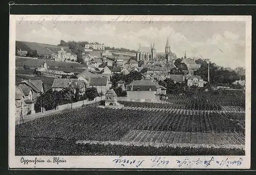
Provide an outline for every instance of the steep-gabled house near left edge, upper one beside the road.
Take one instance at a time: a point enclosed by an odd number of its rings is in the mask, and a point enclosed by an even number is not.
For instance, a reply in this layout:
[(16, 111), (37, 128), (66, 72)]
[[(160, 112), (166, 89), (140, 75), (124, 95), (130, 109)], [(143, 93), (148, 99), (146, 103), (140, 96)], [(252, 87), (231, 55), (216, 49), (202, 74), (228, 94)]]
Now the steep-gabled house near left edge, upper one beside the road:
[(41, 80), (24, 80), (20, 82), (18, 85), (21, 89), (24, 91), (28, 91), (28, 89), (31, 89), (32, 93), (32, 101), (36, 101), (36, 98), (40, 96), (42, 93), (44, 93), (44, 86)]

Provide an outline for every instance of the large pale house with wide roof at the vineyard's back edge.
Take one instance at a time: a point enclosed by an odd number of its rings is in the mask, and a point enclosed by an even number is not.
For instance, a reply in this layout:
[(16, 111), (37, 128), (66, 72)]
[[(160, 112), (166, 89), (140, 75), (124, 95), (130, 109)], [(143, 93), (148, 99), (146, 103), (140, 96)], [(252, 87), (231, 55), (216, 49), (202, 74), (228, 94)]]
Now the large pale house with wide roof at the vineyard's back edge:
[(136, 80), (127, 85), (127, 101), (153, 102), (159, 100), (161, 93), (166, 93), (166, 88), (158, 85), (151, 79)]

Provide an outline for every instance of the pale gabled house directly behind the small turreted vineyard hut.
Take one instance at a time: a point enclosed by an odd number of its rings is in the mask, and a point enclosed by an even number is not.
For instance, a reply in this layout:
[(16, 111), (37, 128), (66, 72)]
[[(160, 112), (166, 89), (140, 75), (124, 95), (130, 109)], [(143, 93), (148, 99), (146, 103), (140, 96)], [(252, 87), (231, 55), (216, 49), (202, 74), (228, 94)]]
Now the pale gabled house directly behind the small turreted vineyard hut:
[(109, 88), (109, 80), (106, 77), (92, 77), (90, 80), (90, 88), (95, 87), (98, 93), (105, 94)]

